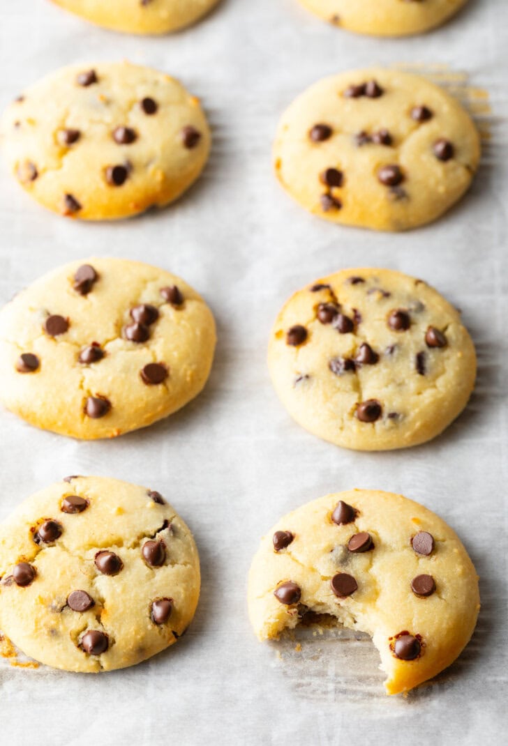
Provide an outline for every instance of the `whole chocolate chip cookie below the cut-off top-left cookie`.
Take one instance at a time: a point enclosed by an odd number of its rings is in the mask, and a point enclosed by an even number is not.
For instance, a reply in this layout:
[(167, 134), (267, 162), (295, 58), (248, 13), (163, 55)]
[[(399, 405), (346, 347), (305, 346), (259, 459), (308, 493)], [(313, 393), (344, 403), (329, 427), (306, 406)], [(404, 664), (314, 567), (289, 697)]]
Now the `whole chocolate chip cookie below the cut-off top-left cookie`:
[(175, 200), (201, 173), (211, 140), (197, 98), (128, 62), (53, 72), (7, 107), (1, 134), (19, 184), (49, 210), (84, 220)]

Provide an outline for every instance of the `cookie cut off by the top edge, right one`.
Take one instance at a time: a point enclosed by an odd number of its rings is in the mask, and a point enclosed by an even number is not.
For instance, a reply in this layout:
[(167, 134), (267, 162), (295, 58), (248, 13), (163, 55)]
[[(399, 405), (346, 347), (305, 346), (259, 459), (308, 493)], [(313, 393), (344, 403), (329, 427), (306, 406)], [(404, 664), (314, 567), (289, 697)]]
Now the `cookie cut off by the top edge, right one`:
[(444, 23), (467, 0), (300, 0), (335, 25), (377, 37), (421, 34)]

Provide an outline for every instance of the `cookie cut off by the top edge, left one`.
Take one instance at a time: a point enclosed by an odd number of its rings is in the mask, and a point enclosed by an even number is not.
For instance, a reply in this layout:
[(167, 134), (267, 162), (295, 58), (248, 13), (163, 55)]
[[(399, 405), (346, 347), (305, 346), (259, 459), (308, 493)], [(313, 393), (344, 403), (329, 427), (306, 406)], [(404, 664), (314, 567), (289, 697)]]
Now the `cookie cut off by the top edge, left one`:
[(196, 22), (219, 0), (53, 0), (87, 21), (128, 34), (167, 34)]

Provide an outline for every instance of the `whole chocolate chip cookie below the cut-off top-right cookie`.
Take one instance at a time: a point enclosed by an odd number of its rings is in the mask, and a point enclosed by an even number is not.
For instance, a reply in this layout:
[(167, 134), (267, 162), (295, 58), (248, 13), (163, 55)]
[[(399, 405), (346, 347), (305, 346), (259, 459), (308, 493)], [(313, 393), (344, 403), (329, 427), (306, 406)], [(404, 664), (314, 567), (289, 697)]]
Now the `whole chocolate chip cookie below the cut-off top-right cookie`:
[(276, 175), (329, 221), (403, 231), (445, 213), (471, 184), (471, 117), (417, 75), (372, 68), (324, 78), (282, 115)]

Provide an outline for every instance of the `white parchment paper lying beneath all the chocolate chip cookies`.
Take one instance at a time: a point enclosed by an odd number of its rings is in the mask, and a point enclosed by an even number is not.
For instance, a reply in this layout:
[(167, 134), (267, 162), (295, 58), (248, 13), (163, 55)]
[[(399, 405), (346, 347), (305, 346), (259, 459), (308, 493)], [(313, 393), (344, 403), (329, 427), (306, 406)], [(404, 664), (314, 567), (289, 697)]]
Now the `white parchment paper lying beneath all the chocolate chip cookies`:
[[(0, 518), (65, 474), (111, 475), (162, 492), (193, 529), (202, 560), (195, 621), (155, 659), (100, 676), (1, 661), (1, 742), (505, 742), (507, 46), (505, 0), (470, 0), (445, 28), (406, 40), (347, 34), (296, 0), (223, 0), (201, 24), (161, 39), (95, 28), (47, 0), (2, 3), (1, 107), (59, 66), (128, 57), (170, 72), (202, 98), (214, 150), (203, 178), (173, 207), (110, 225), (53, 216), (2, 166), (0, 301), (67, 260), (141, 259), (205, 295), (219, 343), (196, 401), (114, 442), (75, 442), (0, 412)], [(307, 215), (271, 173), (282, 109), (323, 75), (400, 62), (447, 63), (489, 90), (492, 141), (473, 188), (445, 219), (399, 235)], [(463, 416), (434, 442), (385, 454), (341, 450), (297, 427), (276, 401), (265, 364), (270, 325), (291, 292), (343, 266), (371, 265), (435, 285), (462, 308), (479, 354)], [(366, 639), (307, 632), (303, 652), (294, 653), (294, 642), (258, 643), (247, 619), (247, 571), (262, 533), (288, 510), (355, 486), (403, 492), (435, 510), (481, 576), (471, 644), (407, 698), (385, 696)]]

